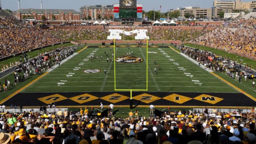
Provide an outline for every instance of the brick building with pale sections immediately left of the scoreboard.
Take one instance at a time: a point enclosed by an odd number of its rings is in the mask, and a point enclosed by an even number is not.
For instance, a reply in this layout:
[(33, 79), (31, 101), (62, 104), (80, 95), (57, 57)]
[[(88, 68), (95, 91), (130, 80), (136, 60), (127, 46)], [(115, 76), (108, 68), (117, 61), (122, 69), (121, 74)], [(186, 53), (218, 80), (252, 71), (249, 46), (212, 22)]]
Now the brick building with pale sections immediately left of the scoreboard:
[(114, 17), (114, 8), (113, 5), (82, 6), (80, 7), (80, 16), (81, 20), (90, 18), (91, 20), (112, 19)]

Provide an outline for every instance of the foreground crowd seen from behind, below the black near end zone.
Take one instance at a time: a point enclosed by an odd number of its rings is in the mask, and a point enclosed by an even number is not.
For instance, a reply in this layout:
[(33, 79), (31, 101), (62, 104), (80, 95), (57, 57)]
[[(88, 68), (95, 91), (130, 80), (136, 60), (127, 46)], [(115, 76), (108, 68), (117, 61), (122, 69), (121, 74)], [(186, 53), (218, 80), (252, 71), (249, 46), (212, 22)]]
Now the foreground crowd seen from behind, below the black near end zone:
[[(255, 108), (251, 112), (169, 111), (158, 117), (88, 117), (56, 112), (2, 113), (0, 135), (22, 144), (254, 144)], [(1, 140), (1, 137), (0, 137)], [(8, 143), (7, 142), (7, 143)]]

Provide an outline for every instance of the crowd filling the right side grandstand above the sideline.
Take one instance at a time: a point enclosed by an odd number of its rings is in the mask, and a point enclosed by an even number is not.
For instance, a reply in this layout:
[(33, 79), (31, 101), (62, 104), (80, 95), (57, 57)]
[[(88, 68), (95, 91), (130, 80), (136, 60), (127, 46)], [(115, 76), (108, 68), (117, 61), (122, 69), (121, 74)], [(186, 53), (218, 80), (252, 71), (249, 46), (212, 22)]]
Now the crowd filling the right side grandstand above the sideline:
[(256, 57), (255, 30), (256, 19), (240, 19), (219, 27), (212, 32), (199, 37), (197, 43), (221, 48), (226, 52), (235, 52), (244, 56)]

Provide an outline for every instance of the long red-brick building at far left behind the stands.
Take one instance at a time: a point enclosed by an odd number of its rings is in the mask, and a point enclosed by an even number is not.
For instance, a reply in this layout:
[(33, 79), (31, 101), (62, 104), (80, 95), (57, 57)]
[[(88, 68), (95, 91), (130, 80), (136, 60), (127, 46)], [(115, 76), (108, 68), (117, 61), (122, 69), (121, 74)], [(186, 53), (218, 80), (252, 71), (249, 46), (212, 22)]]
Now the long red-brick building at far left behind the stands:
[(45, 16), (47, 20), (80, 20), (80, 12), (71, 9), (20, 9), (14, 12), (18, 19), (23, 19), (25, 16), (42, 20)]

